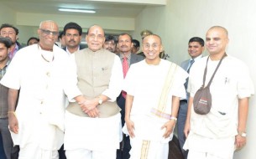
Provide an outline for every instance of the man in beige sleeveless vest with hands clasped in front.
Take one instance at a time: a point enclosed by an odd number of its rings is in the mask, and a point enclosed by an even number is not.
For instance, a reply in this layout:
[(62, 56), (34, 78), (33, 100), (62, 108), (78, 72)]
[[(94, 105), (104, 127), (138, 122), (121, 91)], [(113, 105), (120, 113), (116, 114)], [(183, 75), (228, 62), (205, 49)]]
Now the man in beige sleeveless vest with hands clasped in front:
[(115, 100), (122, 90), (123, 70), (119, 57), (102, 49), (104, 41), (102, 27), (91, 26), (86, 34), (88, 48), (77, 51), (72, 61), (77, 86), (86, 100), (67, 107), (64, 145), (68, 159), (116, 158), (122, 132)]

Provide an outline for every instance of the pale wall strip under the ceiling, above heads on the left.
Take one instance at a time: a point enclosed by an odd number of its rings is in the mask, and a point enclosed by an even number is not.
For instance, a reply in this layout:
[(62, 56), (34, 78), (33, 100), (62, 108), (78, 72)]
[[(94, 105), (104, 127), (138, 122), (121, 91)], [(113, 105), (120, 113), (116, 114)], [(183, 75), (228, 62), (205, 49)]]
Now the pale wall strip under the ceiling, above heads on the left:
[[(86, 17), (74, 15), (54, 15), (43, 13), (16, 13), (16, 24), (21, 30), (20, 41), (26, 43), (27, 39), (34, 36), (34, 30), (39, 28), (39, 23), (44, 20), (54, 20), (62, 30), (66, 23), (76, 22), (86, 32), (93, 24), (99, 24), (106, 33), (123, 33), (134, 30), (134, 18), (109, 18), (109, 17)], [(31, 28), (31, 29), (28, 29)]]

